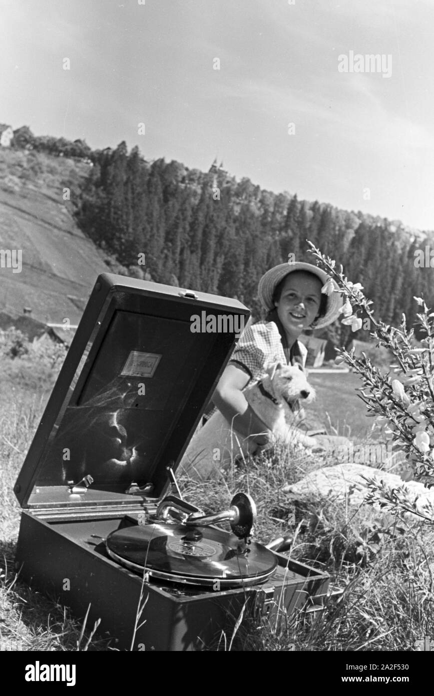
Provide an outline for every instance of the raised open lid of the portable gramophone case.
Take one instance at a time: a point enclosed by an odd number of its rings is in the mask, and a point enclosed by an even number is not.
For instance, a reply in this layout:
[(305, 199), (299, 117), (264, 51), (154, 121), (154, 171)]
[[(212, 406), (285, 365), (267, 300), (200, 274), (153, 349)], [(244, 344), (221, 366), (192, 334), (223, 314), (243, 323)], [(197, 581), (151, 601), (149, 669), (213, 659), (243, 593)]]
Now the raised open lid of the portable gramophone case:
[(98, 276), (15, 484), (22, 507), (129, 504), (133, 483), (159, 498), (249, 317), (236, 300)]

